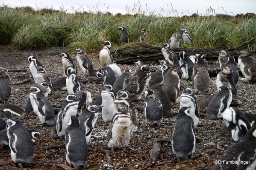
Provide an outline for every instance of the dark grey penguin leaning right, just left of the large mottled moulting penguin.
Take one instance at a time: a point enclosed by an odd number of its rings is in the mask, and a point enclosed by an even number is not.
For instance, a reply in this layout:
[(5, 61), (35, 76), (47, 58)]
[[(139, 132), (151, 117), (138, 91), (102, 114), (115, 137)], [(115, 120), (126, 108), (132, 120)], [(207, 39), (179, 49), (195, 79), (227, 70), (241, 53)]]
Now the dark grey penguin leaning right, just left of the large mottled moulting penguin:
[(119, 90), (123, 89), (125, 90), (127, 87), (127, 83), (129, 79), (132, 78), (132, 70), (126, 69), (124, 72), (115, 80), (113, 84), (113, 92), (116, 97), (116, 94)]

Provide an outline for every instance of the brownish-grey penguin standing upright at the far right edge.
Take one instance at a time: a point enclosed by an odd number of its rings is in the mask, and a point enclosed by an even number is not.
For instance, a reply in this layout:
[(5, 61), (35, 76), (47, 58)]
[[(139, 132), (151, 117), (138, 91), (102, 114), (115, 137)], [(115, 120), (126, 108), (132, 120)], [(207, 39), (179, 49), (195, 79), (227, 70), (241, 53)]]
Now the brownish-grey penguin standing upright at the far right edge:
[(245, 77), (245, 81), (256, 82), (256, 61), (249, 56), (247, 50), (243, 49), (239, 53), (238, 68)]

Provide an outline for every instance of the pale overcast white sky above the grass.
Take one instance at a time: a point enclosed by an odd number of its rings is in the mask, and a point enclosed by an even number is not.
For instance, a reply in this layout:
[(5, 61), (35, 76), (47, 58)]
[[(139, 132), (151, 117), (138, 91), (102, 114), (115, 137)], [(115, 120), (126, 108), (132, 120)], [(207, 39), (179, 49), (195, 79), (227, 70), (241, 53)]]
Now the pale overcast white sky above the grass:
[[(150, 1), (150, 2), (149, 2)], [(140, 4), (140, 5), (139, 5)], [(197, 13), (205, 14), (256, 14), (256, 0), (0, 0), (0, 6), (22, 7), (33, 9), (111, 12), (112, 14), (136, 14), (141, 11), (154, 12), (164, 16), (182, 16)], [(209, 9), (214, 9), (212, 12)]]

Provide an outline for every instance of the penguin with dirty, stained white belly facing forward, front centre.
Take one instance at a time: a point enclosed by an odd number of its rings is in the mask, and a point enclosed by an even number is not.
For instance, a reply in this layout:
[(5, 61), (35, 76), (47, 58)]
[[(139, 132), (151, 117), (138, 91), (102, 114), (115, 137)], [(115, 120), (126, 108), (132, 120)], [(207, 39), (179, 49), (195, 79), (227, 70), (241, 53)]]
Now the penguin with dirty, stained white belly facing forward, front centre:
[(128, 146), (131, 134), (131, 117), (127, 114), (127, 107), (121, 105), (113, 116), (107, 132), (108, 146), (114, 151)]

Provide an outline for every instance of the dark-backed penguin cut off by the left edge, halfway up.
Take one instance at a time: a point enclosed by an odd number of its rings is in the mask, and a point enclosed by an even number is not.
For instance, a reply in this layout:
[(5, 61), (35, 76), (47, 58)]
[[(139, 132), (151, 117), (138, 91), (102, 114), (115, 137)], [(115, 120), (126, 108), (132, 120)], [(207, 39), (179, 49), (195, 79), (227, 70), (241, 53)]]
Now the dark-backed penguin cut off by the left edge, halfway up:
[(8, 72), (0, 68), (0, 103), (9, 103), (11, 94), (12, 86)]

